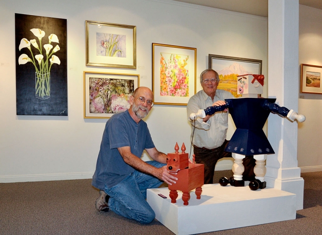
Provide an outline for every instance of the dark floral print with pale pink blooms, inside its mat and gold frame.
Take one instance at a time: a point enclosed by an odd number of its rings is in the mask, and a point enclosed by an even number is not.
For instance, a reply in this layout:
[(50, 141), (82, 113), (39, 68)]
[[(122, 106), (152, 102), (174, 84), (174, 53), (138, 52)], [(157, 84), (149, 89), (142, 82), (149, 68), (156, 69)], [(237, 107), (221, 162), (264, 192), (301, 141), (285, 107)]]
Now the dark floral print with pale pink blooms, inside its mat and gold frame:
[(134, 80), (89, 78), (90, 113), (118, 113), (130, 108)]

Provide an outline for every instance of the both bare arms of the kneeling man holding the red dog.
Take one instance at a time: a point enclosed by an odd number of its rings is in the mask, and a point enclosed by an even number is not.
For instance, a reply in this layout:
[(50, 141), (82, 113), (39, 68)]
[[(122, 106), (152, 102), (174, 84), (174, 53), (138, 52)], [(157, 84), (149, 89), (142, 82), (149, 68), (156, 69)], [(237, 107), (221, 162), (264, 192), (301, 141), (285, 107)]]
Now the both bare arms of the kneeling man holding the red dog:
[[(167, 166), (156, 168), (154, 166), (147, 164), (146, 162), (142, 161), (140, 158), (132, 154), (131, 148), (129, 146), (124, 146), (117, 149), (120, 152), (124, 162), (130, 165), (131, 167), (133, 167), (134, 169), (144, 172), (146, 174), (153, 175), (158, 179), (165, 181), (169, 185), (176, 183), (176, 180), (178, 180), (177, 177), (169, 173), (169, 171), (167, 170)], [(167, 163), (167, 155), (158, 152), (156, 149), (155, 150), (153, 149), (146, 150), (147, 153), (150, 155), (150, 157), (156, 161), (160, 160), (159, 162), (161, 163)]]

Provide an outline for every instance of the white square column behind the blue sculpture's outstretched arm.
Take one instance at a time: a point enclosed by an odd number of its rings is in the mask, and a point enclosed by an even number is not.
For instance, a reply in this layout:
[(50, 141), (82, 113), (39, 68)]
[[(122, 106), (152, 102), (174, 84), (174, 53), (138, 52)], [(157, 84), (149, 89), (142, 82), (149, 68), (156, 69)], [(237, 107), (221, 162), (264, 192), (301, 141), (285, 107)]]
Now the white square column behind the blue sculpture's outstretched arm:
[[(268, 96), (295, 111), (299, 91), (298, 21), (298, 1), (268, 1)], [(297, 122), (271, 113), (268, 139), (275, 154), (267, 157), (267, 186), (295, 193), (296, 209), (302, 209), (304, 180), (297, 166)]]

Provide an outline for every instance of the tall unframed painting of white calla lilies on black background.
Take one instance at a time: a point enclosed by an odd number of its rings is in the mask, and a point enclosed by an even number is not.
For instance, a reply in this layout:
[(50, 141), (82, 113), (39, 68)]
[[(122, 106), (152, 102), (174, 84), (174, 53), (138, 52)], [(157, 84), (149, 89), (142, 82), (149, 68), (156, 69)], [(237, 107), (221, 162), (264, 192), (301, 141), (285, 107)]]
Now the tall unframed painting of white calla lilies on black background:
[(16, 14), (18, 115), (67, 115), (64, 19)]

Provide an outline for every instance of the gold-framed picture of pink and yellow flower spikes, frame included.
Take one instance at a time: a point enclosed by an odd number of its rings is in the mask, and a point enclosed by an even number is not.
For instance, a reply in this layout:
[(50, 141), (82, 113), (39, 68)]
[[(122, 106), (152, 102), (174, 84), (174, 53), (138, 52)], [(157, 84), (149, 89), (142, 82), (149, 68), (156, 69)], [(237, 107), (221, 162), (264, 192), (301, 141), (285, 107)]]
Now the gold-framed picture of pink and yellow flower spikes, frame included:
[(196, 93), (197, 49), (152, 43), (154, 104), (187, 105)]

